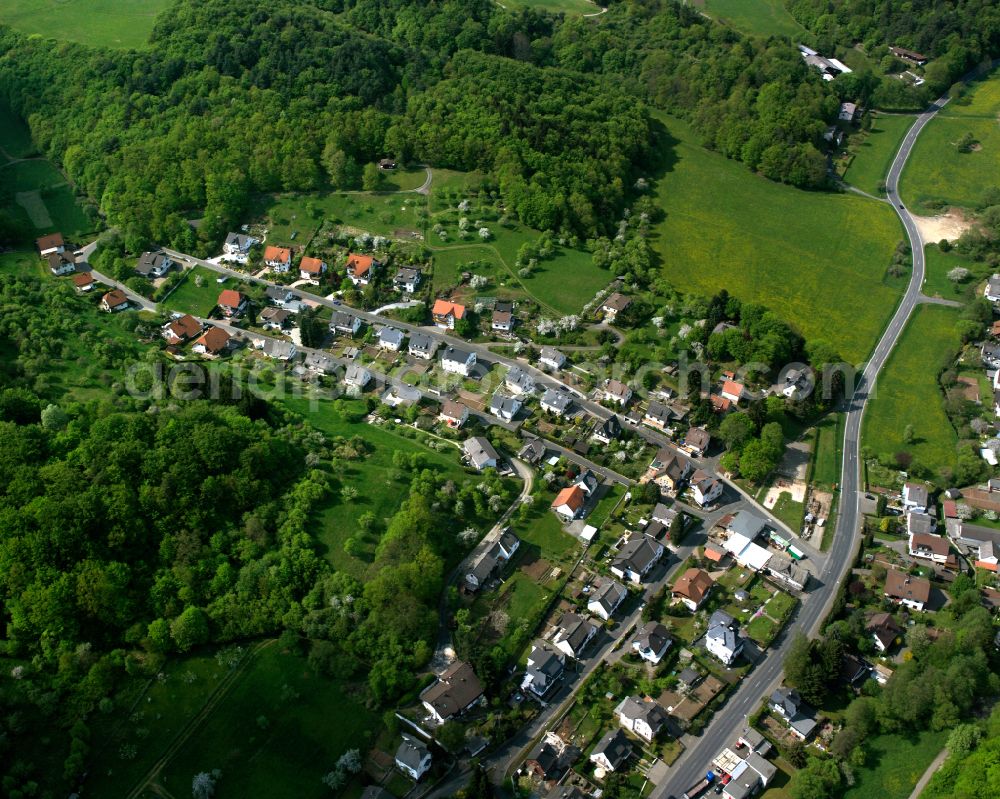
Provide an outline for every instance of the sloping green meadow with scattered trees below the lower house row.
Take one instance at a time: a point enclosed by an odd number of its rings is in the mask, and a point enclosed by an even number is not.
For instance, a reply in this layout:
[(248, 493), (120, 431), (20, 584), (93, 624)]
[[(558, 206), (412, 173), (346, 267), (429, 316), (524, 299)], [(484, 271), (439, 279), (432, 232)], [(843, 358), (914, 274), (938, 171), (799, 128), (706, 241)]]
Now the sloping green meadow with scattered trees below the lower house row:
[[(393, 465), (396, 452), (407, 455), (420, 453), (424, 457), (425, 468), (446, 475), (458, 484), (472, 479), (460, 466), (457, 449), (447, 454), (436, 452), (384, 427), (357, 421), (361, 415), (360, 402), (321, 400), (315, 410), (310, 408), (308, 399), (286, 398), (283, 404), (330, 437), (360, 436), (373, 447), (373, 451), (364, 458), (340, 462), (336, 474), (338, 485), (317, 518), (317, 538), (326, 550), (327, 560), (338, 571), (359, 578), (365, 576), (374, 558), (378, 532), (385, 529), (388, 519), (399, 510), (409, 494), (412, 472)], [(358, 489), (359, 495), (355, 499), (347, 501), (341, 496), (340, 487), (346, 485)], [(358, 519), (368, 512), (375, 514), (378, 524), (372, 532), (365, 533), (358, 525)], [(344, 542), (349, 538), (353, 538), (358, 545), (356, 555), (344, 551)]]

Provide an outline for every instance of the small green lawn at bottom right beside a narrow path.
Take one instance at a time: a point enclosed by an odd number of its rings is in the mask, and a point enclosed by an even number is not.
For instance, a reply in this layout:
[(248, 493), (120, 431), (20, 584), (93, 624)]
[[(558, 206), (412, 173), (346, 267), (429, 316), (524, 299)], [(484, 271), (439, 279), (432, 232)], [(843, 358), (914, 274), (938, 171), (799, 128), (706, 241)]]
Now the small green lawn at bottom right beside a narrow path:
[(907, 799), (920, 775), (944, 747), (948, 730), (917, 735), (877, 735), (865, 740), (866, 765), (855, 768), (843, 799)]

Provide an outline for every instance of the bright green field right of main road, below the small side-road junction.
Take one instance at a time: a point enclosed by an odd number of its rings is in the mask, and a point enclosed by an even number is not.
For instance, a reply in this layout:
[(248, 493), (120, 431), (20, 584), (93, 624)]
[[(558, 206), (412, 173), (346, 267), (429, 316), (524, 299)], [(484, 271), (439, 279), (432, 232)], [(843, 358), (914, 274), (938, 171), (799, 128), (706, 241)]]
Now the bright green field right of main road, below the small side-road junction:
[[(938, 373), (958, 350), (958, 311), (921, 305), (910, 318), (874, 386), (862, 423), (862, 443), (882, 459), (909, 452), (940, 474), (955, 465), (957, 435), (944, 410)], [(913, 441), (904, 441), (908, 425)]]

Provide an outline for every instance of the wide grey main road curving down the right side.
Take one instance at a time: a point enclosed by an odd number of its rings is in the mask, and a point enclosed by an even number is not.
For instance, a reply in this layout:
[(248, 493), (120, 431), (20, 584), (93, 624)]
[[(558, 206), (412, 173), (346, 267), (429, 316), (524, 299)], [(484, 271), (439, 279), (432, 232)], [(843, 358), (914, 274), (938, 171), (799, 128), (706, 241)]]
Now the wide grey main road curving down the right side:
[[(816, 586), (803, 596), (802, 607), (795, 619), (795, 629), (807, 635), (817, 631), (829, 612), (837, 589), (854, 560), (858, 530), (858, 501), (860, 499), (860, 439), (861, 418), (865, 412), (869, 393), (879, 371), (885, 365), (913, 309), (921, 301), (920, 289), (924, 282), (924, 249), (916, 223), (899, 198), (899, 176), (906, 165), (913, 145), (924, 126), (948, 102), (943, 97), (917, 117), (907, 132), (886, 178), (886, 195), (903, 222), (913, 253), (913, 273), (910, 283), (893, 314), (892, 320), (872, 352), (857, 388), (848, 403), (844, 420), (844, 463), (841, 477), (840, 508), (837, 528), (823, 570), (815, 575)], [(783, 635), (767, 659), (743, 680), (739, 690), (730, 698), (713, 722), (670, 768), (670, 776), (650, 795), (651, 799), (681, 796), (711, 767), (713, 758), (739, 734), (746, 725), (746, 717), (756, 710), (761, 699), (777, 687), (782, 676), (782, 662), (788, 652), (792, 636)]]

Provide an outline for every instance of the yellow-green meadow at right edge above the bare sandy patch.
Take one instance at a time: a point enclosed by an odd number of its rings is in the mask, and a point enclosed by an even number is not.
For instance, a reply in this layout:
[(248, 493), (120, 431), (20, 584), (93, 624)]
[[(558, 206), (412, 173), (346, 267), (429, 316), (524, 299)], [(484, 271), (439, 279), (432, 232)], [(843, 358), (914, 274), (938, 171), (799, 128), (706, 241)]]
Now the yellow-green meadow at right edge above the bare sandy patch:
[[(984, 189), (1000, 186), (998, 114), (1000, 72), (993, 72), (952, 100), (920, 134), (901, 181), (905, 198), (974, 206)], [(973, 151), (959, 152), (955, 143), (966, 133), (975, 140)]]

